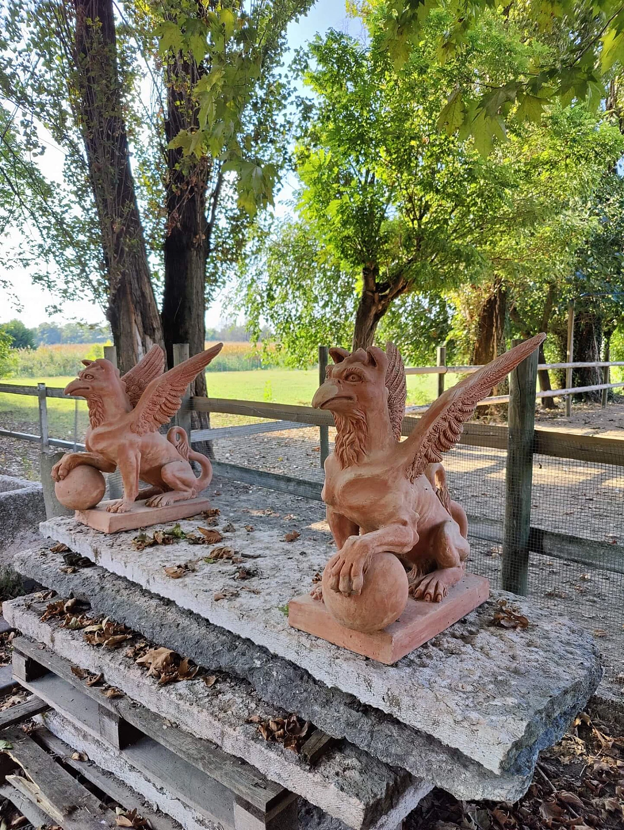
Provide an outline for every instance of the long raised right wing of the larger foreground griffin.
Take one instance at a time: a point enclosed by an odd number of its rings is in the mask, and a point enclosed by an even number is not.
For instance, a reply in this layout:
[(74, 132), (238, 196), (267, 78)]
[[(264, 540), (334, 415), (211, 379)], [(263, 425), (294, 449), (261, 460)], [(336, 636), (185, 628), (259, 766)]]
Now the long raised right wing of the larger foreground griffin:
[(525, 340), (470, 374), (431, 404), (416, 429), (401, 444), (411, 481), (425, 471), (427, 464), (441, 461), (442, 453), (459, 441), (464, 423), (475, 412), (477, 403), (486, 398), (490, 389), (514, 367), (529, 357), (544, 339), (545, 334), (536, 334)]

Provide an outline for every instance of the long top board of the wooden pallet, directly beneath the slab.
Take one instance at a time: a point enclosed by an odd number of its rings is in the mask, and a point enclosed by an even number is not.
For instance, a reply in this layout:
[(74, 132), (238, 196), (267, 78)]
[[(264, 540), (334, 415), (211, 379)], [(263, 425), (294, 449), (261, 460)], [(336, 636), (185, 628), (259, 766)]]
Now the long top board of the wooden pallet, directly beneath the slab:
[(288, 793), (280, 784), (266, 779), (251, 764), (223, 752), (210, 741), (195, 738), (188, 732), (173, 727), (160, 715), (150, 712), (129, 697), (106, 698), (97, 687), (85, 686), (71, 671), (69, 662), (49, 649), (41, 649), (36, 642), (27, 637), (17, 637), (13, 640), (13, 648), (27, 657), (38, 660), (42, 666), (46, 666), (49, 671), (67, 681), (85, 696), (97, 701), (101, 706), (117, 712), (144, 735), (148, 735), (158, 744), (186, 759), (189, 764), (193, 764), (197, 769), (201, 769), (211, 778), (221, 782), (256, 808), (266, 812), (273, 808), (275, 803), (279, 803), (285, 793)]

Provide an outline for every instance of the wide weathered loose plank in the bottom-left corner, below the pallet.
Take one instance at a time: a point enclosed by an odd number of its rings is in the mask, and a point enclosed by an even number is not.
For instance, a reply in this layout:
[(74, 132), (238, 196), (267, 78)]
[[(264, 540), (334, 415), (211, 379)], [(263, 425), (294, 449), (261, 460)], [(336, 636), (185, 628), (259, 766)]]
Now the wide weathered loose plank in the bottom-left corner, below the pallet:
[(12, 744), (12, 749), (4, 750), (5, 754), (28, 776), (25, 779), (7, 775), (7, 782), (61, 824), (64, 830), (115, 827), (115, 813), (78, 784), (32, 738), (18, 729), (8, 730), (3, 737)]

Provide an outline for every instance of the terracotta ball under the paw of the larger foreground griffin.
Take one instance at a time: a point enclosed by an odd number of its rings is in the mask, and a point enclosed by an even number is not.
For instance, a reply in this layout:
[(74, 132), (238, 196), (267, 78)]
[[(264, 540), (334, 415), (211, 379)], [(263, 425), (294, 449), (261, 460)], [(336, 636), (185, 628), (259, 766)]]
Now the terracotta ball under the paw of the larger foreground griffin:
[(407, 574), (394, 554), (373, 556), (362, 593), (344, 597), (329, 588), (329, 563), (323, 572), (323, 599), (331, 616), (345, 628), (370, 633), (394, 623), (407, 605)]

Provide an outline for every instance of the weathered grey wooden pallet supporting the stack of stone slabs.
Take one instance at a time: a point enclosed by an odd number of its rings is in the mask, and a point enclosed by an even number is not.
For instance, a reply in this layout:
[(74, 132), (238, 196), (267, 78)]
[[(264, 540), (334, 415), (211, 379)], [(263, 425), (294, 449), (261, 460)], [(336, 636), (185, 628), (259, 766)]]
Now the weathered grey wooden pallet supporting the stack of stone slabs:
[(12, 646), (13, 676), (24, 688), (200, 816), (230, 830), (296, 828), (295, 794), (251, 764), (126, 696), (106, 698), (97, 687), (85, 686), (64, 658), (27, 637), (17, 637)]

